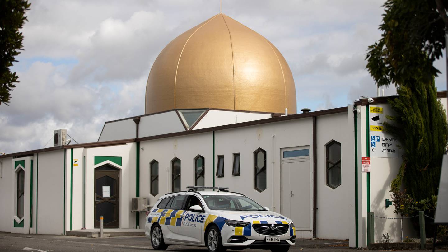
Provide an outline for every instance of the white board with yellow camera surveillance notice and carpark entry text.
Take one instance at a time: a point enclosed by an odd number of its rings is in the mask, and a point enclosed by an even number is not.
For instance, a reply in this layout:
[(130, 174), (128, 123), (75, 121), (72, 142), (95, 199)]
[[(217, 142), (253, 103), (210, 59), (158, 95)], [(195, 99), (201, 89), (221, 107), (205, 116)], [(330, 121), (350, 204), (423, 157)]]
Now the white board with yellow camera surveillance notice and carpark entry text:
[(370, 156), (398, 158), (398, 139), (384, 132), (383, 107), (370, 107)]

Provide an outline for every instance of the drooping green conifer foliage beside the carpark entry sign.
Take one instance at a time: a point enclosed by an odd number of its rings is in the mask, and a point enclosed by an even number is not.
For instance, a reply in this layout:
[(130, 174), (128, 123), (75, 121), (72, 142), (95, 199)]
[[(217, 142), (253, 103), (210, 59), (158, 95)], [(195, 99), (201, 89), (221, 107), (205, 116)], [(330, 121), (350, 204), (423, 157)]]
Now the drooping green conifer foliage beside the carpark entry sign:
[(411, 78), (397, 88), (398, 98), (389, 100), (396, 116), (387, 116), (386, 130), (395, 135), (404, 150), (392, 191), (401, 186), (415, 200), (437, 195), (442, 156), (448, 140), (445, 110), (437, 99), (434, 78), (430, 83)]

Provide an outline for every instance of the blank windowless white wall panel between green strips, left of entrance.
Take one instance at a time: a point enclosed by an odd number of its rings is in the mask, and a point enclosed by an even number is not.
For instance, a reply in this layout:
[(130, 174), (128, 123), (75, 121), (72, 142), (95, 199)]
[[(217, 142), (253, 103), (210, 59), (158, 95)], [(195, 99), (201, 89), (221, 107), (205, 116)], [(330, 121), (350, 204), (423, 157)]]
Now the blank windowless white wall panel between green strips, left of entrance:
[(64, 233), (64, 151), (39, 153), (36, 217), (38, 234)]

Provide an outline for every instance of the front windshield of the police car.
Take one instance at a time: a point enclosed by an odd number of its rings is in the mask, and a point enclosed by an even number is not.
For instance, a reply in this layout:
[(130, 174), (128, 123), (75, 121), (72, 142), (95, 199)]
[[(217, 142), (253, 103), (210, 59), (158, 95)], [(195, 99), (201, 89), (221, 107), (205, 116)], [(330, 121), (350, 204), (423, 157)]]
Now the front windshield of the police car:
[(261, 205), (246, 196), (204, 195), (205, 204), (211, 210), (266, 211)]

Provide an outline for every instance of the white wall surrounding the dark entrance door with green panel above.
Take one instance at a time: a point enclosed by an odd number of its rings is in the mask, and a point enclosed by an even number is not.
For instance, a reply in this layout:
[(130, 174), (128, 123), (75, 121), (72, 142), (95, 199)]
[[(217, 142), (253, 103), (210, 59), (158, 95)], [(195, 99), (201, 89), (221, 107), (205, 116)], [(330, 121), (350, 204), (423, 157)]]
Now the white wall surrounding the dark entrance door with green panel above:
[[(81, 152), (78, 152), (78, 154)], [(136, 193), (136, 143), (127, 143), (114, 146), (105, 146), (98, 148), (86, 148), (86, 228), (94, 228), (94, 194), (95, 194), (95, 168), (104, 164), (110, 164), (120, 169), (120, 228), (136, 228), (135, 213), (131, 213), (131, 198)], [(74, 155), (74, 154), (73, 154)], [(121, 156), (121, 165), (104, 161), (95, 165), (95, 156)], [(76, 187), (82, 183), (77, 177)], [(73, 182), (75, 185), (75, 181)], [(78, 215), (78, 220), (79, 215)], [(69, 219), (69, 218), (68, 218)], [(74, 225), (74, 224), (73, 224)], [(81, 225), (79, 222), (77, 226)]]

